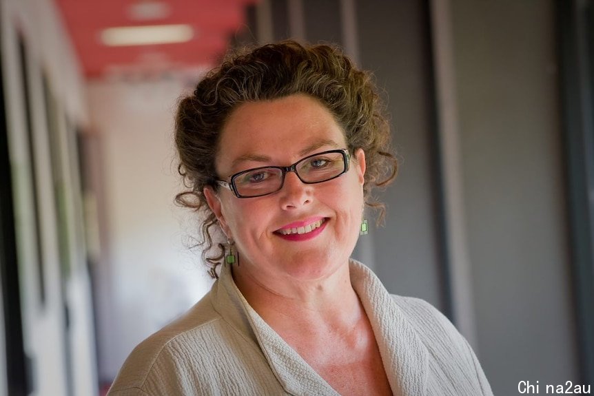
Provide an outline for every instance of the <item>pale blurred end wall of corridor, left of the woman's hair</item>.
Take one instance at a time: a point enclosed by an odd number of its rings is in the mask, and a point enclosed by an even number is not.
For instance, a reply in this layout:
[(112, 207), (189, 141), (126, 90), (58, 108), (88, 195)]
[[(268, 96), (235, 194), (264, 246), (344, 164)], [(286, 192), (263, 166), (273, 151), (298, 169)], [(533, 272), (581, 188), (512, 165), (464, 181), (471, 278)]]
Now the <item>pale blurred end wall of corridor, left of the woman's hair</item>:
[(174, 205), (181, 191), (173, 145), (174, 80), (88, 86), (92, 130), (102, 153), (107, 251), (99, 284), (99, 373), (112, 379), (141, 340), (209, 289), (195, 213)]

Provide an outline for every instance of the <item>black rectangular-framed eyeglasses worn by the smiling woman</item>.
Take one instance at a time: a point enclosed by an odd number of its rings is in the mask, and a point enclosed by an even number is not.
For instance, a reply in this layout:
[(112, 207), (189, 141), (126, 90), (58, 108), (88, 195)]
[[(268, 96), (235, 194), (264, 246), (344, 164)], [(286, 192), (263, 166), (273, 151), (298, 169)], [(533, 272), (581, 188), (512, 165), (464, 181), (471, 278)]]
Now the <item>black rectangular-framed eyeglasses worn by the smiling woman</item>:
[(349, 170), (351, 156), (347, 149), (329, 150), (301, 158), (289, 167), (259, 167), (240, 171), (225, 180), (215, 180), (237, 198), (255, 198), (273, 194), (283, 188), (285, 175), (294, 171), (299, 180), (311, 185), (327, 182)]

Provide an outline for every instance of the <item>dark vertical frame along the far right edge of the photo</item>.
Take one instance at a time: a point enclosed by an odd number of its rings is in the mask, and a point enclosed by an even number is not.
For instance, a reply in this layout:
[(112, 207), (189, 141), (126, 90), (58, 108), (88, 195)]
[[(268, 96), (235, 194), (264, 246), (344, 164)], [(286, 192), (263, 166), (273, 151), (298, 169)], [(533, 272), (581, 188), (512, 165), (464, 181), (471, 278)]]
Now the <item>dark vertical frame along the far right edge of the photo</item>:
[(594, 383), (594, 0), (557, 0), (569, 247), (577, 353)]

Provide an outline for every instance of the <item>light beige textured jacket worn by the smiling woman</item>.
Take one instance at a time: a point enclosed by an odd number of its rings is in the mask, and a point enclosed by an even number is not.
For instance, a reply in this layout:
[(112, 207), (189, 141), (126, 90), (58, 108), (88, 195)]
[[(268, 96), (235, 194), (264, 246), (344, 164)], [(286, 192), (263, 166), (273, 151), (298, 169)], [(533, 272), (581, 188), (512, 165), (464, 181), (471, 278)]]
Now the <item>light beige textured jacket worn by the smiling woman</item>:
[[(393, 395), (493, 395), (469, 344), (444, 315), (390, 295), (359, 262), (357, 292)], [(136, 346), (109, 395), (338, 395), (252, 309), (229, 267), (181, 319)]]

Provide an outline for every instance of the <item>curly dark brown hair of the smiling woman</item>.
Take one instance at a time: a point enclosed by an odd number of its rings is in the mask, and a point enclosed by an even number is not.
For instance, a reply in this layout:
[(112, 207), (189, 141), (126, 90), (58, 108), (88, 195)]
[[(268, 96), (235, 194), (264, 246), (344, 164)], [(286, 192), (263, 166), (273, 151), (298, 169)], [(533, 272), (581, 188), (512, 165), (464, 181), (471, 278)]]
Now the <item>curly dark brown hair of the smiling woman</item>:
[(389, 123), (376, 92), (373, 77), (358, 68), (331, 45), (301, 45), (281, 41), (252, 50), (230, 53), (221, 67), (210, 71), (194, 92), (182, 98), (175, 123), (175, 143), (183, 176), (183, 191), (176, 202), (203, 211), (201, 238), (203, 260), (209, 273), (222, 262), (224, 247), (216, 243), (220, 231), (203, 189), (218, 188), (215, 158), (221, 147), (221, 131), (230, 114), (242, 103), (268, 101), (292, 94), (307, 94), (324, 105), (345, 133), (349, 152), (365, 152), (365, 203), (378, 209), (378, 222), (385, 207), (371, 196), (373, 187), (385, 187), (396, 177), (396, 158), (391, 154)]

